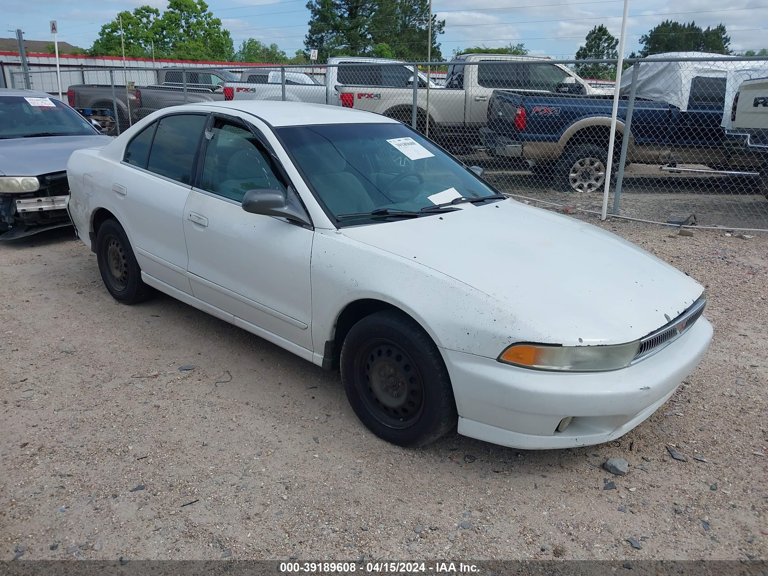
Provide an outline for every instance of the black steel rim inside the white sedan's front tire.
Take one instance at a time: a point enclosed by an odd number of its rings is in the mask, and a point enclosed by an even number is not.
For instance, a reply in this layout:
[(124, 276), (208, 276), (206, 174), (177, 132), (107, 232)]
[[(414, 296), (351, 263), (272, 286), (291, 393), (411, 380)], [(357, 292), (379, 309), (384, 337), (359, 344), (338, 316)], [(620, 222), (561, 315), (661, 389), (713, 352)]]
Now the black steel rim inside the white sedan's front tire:
[(389, 428), (412, 425), (424, 409), (424, 381), (412, 358), (387, 339), (361, 346), (356, 358), (356, 387), (373, 417)]

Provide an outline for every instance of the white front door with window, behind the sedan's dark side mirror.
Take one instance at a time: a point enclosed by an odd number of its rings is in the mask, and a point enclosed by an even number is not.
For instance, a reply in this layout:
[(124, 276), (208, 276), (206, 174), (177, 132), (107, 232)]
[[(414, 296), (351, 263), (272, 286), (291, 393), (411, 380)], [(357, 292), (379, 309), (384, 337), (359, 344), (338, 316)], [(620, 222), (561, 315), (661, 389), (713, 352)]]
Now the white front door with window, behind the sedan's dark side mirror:
[[(235, 316), (235, 323), (308, 356), (313, 230), (283, 218), (250, 214), (248, 190), (294, 194), (283, 171), (237, 119), (212, 117), (201, 152), (199, 187), (184, 207), (194, 296)], [(287, 343), (286, 343), (287, 341)]]

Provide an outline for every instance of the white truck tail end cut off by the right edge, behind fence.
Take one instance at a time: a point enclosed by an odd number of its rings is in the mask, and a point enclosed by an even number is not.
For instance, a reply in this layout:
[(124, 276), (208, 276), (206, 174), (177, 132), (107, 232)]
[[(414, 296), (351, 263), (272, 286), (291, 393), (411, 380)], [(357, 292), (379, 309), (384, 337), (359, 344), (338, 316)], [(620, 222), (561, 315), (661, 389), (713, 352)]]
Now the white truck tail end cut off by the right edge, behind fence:
[(728, 134), (746, 149), (760, 154), (760, 191), (768, 197), (768, 78), (753, 78), (739, 86), (730, 111)]

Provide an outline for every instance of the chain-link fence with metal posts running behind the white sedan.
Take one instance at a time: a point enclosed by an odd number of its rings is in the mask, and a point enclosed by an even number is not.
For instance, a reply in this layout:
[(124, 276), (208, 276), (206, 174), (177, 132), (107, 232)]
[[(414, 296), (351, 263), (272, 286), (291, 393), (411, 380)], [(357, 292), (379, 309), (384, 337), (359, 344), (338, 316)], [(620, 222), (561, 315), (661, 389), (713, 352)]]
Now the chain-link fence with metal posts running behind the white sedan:
[[(607, 214), (618, 217), (768, 230), (768, 60), (627, 60), (609, 161), (614, 82), (604, 78), (615, 68), (615, 60), (502, 55), (422, 65), (350, 58), (237, 75), (101, 68), (74, 72), (74, 84), (62, 73), (62, 91), (111, 134), (160, 108), (201, 101), (372, 111), (412, 125), (482, 167), (498, 190), (528, 201), (600, 214), (607, 200)], [(435, 71), (445, 72), (442, 84), (427, 80)], [(30, 76), (33, 88), (55, 93), (55, 72)], [(22, 74), (15, 85), (23, 86)], [(741, 92), (750, 97), (740, 99)]]

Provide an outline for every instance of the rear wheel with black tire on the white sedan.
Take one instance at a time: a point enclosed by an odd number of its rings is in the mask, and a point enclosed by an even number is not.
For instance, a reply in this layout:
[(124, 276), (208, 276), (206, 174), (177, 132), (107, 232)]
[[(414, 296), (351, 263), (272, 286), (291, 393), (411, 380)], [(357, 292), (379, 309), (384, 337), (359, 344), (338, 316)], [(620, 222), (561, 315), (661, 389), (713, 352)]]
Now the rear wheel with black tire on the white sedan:
[(101, 280), (114, 300), (137, 304), (151, 296), (152, 289), (141, 280), (141, 268), (134, 250), (117, 220), (105, 220), (99, 227), (96, 259)]

